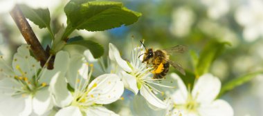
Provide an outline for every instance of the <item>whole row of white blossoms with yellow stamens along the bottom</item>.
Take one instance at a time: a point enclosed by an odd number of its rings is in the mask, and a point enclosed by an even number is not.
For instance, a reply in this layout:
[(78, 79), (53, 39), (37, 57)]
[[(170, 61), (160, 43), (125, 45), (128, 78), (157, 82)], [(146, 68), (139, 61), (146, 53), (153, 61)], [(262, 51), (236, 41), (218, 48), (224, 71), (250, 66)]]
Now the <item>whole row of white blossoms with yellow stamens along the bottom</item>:
[[(163, 115), (233, 115), (226, 101), (215, 100), (221, 88), (217, 77), (201, 76), (192, 93), (174, 73), (167, 77), (176, 81), (176, 88), (163, 85), (138, 58), (143, 46), (133, 48), (125, 61), (109, 43), (111, 63), (104, 72), (97, 70), (98, 60), (88, 50), (84, 55), (57, 52), (53, 70), (41, 67), (29, 50), (26, 44), (19, 47), (12, 67), (1, 56), (0, 115), (117, 115), (103, 105), (122, 99), (125, 88), (142, 96), (153, 110), (167, 110)], [(158, 87), (175, 91), (161, 100), (158, 96), (164, 92)]]

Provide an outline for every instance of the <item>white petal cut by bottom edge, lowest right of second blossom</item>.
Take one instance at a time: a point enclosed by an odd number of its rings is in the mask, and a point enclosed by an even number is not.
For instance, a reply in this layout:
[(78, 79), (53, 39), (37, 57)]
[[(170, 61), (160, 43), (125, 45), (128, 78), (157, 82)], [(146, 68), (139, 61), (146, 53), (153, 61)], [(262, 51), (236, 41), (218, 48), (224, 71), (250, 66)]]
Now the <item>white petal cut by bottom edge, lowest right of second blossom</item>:
[(105, 107), (102, 106), (96, 106), (96, 107), (89, 107), (86, 110), (87, 115), (92, 115), (92, 116), (118, 116), (116, 113), (114, 113), (111, 110), (108, 110)]

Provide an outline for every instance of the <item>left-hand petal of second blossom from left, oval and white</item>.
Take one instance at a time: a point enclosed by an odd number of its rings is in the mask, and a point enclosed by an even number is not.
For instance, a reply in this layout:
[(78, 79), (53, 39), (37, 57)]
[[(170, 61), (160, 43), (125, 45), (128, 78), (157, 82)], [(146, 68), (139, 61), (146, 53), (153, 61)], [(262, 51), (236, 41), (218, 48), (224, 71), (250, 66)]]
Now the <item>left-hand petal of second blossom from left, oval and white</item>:
[(67, 106), (73, 100), (71, 93), (67, 89), (66, 79), (60, 75), (60, 72), (57, 72), (57, 74), (51, 79), (49, 89), (55, 96), (55, 104), (57, 104), (57, 106)]

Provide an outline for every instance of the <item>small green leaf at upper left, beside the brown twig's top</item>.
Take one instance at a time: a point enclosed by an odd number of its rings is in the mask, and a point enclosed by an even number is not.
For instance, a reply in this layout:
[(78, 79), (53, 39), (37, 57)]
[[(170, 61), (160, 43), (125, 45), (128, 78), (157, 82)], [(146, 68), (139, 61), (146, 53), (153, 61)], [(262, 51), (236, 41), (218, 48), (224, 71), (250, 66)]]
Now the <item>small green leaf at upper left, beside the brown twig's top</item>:
[(25, 17), (30, 21), (33, 21), (39, 28), (49, 28), (51, 23), (51, 16), (48, 8), (33, 9), (26, 5), (20, 6), (21, 11), (24, 13)]

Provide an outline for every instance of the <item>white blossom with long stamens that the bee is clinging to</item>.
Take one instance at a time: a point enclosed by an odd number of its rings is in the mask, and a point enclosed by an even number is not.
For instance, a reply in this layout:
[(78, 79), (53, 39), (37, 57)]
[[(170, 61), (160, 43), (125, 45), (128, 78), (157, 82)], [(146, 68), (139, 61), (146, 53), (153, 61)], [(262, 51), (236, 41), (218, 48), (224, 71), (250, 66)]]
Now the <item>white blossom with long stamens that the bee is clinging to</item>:
[(163, 86), (158, 83), (161, 79), (153, 79), (152, 68), (147, 68), (146, 64), (142, 63), (142, 59), (138, 58), (139, 55), (143, 53), (142, 48), (143, 46), (134, 48), (134, 50), (131, 51), (129, 61), (125, 61), (120, 57), (120, 52), (116, 46), (109, 43), (109, 58), (123, 69), (121, 71), (121, 77), (125, 88), (131, 90), (136, 95), (138, 91), (140, 91), (140, 95), (147, 100), (148, 105), (154, 110), (166, 108), (167, 105), (153, 93), (163, 93), (154, 88), (154, 86)]

